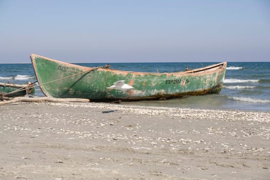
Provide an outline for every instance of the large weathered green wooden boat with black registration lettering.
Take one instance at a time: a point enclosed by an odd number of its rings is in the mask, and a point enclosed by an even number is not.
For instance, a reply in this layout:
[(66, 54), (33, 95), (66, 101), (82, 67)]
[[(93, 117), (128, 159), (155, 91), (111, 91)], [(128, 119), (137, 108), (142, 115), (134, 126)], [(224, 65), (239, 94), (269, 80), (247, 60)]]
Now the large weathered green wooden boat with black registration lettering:
[[(84, 67), (30, 55), (45, 96), (91, 100), (154, 100), (221, 91), (226, 62), (176, 73), (138, 73), (104, 67)], [(124, 84), (127, 83), (127, 84)], [(119, 85), (127, 88), (116, 88)]]

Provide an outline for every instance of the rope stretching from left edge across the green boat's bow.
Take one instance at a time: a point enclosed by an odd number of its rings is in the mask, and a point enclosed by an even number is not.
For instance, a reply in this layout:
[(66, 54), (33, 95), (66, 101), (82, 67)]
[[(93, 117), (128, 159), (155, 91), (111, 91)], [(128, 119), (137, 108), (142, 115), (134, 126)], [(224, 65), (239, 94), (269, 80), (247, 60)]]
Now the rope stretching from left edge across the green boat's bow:
[(86, 74), (86, 73), (89, 73), (91, 71), (94, 71), (94, 70), (97, 70), (99, 68), (110, 68), (110, 64), (106, 64), (104, 66), (99, 66), (99, 67), (94, 67), (92, 69), (89, 69), (89, 70), (86, 70), (86, 71), (82, 71), (80, 73), (77, 73), (77, 74), (74, 74), (74, 75), (70, 75), (70, 76), (66, 76), (66, 77), (63, 77), (63, 78), (59, 78), (59, 79), (56, 79), (56, 80), (53, 80), (53, 81), (49, 81), (49, 82), (45, 82), (45, 83), (42, 83), (42, 84), (38, 84), (38, 85), (33, 85), (34, 83), (38, 82), (38, 81), (35, 81), (35, 82), (32, 82), (32, 83), (29, 83), (27, 86), (25, 87), (21, 87), (19, 89), (16, 89), (15, 91), (12, 91), (12, 92), (9, 92), (9, 93), (5, 93), (5, 94), (0, 94), (1, 97), (5, 97), (7, 95), (10, 95), (12, 93), (17, 93), (17, 92), (20, 92), (20, 91), (26, 91), (26, 94), (30, 94), (31, 92), (31, 88), (34, 88), (34, 87), (39, 87), (39, 86), (42, 86), (42, 85), (45, 85), (45, 84), (49, 84), (49, 83), (52, 83), (52, 82), (57, 82), (57, 81), (61, 81), (63, 79), (66, 79), (66, 78), (70, 78), (70, 77), (73, 77), (73, 76), (77, 76), (77, 75), (80, 75), (80, 74)]

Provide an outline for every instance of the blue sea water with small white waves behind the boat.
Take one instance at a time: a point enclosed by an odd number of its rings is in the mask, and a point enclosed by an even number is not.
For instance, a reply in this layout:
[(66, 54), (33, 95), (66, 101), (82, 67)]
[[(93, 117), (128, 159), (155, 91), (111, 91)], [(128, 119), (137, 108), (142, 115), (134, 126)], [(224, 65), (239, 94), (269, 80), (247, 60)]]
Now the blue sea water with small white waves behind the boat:
[[(75, 63), (97, 67), (106, 63)], [(111, 68), (141, 72), (171, 73), (199, 68), (214, 63), (110, 63)], [(0, 82), (24, 84), (35, 82), (31, 64), (0, 64)], [(35, 83), (35, 86), (38, 86)], [(44, 96), (36, 87), (35, 96)], [(186, 96), (163, 101), (123, 102), (124, 104), (185, 107), (196, 109), (227, 109), (270, 111), (270, 62), (228, 62), (220, 94)]]

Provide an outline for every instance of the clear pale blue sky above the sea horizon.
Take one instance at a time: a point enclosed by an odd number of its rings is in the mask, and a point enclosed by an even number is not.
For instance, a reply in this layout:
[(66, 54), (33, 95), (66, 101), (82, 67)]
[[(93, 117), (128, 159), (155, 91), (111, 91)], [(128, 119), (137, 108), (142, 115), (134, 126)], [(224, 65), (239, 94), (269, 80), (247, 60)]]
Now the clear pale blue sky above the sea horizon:
[(0, 63), (270, 61), (270, 1), (1, 1)]

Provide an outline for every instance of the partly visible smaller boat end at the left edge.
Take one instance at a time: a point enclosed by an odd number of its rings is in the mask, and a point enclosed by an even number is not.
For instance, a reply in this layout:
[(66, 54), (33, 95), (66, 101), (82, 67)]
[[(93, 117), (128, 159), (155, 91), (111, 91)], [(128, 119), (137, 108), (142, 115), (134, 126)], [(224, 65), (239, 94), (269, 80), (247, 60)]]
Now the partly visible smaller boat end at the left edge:
[(33, 83), (28, 84), (13, 84), (0, 82), (0, 96), (15, 97), (25, 96), (27, 94), (34, 95)]

